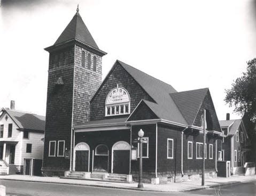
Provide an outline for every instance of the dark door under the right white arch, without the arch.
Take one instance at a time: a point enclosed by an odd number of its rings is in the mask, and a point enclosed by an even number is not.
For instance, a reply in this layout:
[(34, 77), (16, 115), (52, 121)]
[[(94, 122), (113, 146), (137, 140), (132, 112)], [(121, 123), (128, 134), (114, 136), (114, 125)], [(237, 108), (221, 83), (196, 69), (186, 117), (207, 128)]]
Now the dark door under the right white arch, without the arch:
[(129, 163), (129, 150), (113, 150), (113, 173), (129, 174)]

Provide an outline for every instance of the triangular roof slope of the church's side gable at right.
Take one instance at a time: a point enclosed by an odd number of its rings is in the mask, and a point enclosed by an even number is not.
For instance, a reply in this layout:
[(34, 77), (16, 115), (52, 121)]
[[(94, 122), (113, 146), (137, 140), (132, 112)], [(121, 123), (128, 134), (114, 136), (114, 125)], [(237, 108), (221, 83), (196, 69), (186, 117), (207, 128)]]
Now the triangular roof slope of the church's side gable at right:
[(192, 125), (195, 121), (197, 113), (208, 91), (208, 88), (201, 88), (170, 94), (189, 125)]

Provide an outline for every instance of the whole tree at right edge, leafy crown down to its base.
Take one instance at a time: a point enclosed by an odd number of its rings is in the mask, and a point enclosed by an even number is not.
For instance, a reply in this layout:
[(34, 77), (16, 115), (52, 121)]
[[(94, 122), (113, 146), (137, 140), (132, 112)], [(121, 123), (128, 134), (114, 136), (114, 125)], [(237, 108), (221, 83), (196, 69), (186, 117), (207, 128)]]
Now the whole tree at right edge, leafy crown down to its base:
[[(237, 78), (230, 89), (226, 89), (224, 99), (234, 111), (243, 116), (243, 121), (251, 140), (251, 152), (256, 150), (256, 58), (247, 62), (246, 72)], [(255, 153), (251, 161), (256, 161)]]

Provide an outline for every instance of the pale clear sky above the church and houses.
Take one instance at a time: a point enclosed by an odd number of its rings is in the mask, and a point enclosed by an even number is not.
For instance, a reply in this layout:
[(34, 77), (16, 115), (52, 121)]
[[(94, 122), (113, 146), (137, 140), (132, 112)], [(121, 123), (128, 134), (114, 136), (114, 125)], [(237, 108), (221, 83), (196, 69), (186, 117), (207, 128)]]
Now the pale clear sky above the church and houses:
[[(0, 0), (1, 1), (1, 0)], [(256, 58), (256, 1), (2, 0), (0, 108), (45, 115), (49, 53), (76, 12), (103, 56), (103, 79), (121, 60), (177, 91), (210, 88), (219, 120), (240, 118), (225, 89)]]

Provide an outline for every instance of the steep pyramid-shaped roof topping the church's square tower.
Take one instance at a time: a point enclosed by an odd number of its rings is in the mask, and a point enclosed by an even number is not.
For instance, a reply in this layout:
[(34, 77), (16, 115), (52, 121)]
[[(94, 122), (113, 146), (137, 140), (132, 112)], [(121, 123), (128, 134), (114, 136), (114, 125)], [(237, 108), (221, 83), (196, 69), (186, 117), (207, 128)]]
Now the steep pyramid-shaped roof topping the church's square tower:
[(67, 42), (69, 40), (78, 40), (99, 49), (78, 11), (75, 13), (73, 19), (68, 23), (67, 27), (61, 33), (54, 45)]

